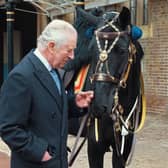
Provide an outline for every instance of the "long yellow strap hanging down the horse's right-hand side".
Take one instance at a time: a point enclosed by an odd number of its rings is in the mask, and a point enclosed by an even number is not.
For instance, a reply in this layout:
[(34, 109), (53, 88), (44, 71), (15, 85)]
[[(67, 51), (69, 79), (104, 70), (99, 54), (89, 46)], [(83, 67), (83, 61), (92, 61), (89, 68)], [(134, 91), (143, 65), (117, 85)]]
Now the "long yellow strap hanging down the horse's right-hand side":
[(141, 83), (141, 94), (142, 94), (142, 117), (141, 117), (141, 122), (138, 128), (136, 129), (135, 133), (139, 132), (142, 129), (146, 119), (146, 97), (145, 97), (145, 91), (144, 91), (144, 80), (143, 80), (142, 72), (140, 73), (140, 83)]

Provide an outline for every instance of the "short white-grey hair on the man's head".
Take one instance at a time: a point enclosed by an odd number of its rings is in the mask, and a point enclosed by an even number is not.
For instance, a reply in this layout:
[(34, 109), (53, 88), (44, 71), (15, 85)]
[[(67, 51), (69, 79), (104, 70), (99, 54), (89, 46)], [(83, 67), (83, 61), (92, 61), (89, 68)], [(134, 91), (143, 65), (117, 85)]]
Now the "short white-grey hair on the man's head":
[(76, 29), (64, 20), (55, 19), (51, 21), (37, 39), (37, 47), (44, 49), (48, 42), (56, 42), (56, 47), (65, 44), (68, 37), (77, 34)]

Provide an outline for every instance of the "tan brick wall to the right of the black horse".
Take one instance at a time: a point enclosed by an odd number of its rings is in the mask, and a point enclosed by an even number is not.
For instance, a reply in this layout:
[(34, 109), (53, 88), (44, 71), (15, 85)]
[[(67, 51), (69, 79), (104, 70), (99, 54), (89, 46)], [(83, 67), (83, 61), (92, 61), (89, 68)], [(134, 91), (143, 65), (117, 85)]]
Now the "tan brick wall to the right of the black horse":
[(149, 0), (149, 37), (141, 40), (147, 112), (168, 114), (168, 1)]

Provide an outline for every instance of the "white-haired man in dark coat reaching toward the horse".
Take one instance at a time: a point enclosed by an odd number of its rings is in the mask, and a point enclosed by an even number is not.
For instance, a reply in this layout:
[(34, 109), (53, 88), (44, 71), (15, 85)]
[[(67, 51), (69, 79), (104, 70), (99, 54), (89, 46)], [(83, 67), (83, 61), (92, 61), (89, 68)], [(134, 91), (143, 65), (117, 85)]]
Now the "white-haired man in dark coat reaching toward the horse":
[(0, 135), (11, 149), (11, 168), (67, 168), (68, 105), (87, 107), (93, 92), (65, 93), (57, 72), (74, 58), (77, 32), (50, 22), (10, 72), (0, 93)]

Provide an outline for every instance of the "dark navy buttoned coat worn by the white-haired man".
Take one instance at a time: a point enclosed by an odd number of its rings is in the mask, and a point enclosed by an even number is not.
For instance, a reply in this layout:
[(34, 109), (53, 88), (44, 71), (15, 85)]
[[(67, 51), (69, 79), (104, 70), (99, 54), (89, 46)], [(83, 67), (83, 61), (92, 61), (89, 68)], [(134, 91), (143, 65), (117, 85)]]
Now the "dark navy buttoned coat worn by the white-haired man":
[[(11, 168), (67, 168), (67, 96), (48, 70), (28, 53), (0, 93), (0, 132), (11, 149)], [(53, 158), (42, 162), (48, 150)]]

